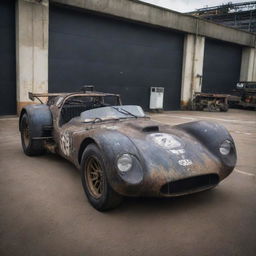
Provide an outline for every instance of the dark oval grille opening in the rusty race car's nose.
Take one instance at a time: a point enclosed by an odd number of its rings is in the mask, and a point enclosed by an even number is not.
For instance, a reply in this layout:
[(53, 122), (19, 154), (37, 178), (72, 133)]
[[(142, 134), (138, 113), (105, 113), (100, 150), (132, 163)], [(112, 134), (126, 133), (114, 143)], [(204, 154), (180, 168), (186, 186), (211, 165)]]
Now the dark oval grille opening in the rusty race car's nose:
[(201, 188), (213, 187), (219, 183), (217, 174), (206, 174), (169, 182), (162, 186), (163, 194), (183, 194)]

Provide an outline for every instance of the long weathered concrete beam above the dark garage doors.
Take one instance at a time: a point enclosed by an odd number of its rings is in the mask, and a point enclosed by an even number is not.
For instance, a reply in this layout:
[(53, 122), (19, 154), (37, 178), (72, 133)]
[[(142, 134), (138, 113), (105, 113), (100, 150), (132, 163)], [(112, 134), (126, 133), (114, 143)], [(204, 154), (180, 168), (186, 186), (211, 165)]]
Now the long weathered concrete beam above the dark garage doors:
[(256, 35), (225, 27), (190, 15), (135, 0), (50, 0), (185, 33), (211, 37), (245, 46), (256, 46)]

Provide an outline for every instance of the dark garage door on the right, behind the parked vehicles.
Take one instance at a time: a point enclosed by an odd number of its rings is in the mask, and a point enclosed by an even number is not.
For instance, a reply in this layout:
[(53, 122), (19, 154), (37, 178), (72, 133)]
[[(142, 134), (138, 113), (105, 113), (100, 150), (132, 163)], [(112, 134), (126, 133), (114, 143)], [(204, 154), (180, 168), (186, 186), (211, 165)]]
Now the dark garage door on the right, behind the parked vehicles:
[(203, 92), (231, 93), (239, 81), (242, 47), (206, 39)]

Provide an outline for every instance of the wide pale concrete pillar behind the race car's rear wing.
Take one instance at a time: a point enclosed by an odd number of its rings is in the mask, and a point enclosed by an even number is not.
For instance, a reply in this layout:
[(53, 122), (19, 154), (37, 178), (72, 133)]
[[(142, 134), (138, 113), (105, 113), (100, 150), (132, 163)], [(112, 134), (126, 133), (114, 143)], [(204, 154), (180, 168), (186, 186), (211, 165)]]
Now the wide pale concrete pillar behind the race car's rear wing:
[(48, 92), (48, 1), (16, 2), (17, 110), (28, 92)]

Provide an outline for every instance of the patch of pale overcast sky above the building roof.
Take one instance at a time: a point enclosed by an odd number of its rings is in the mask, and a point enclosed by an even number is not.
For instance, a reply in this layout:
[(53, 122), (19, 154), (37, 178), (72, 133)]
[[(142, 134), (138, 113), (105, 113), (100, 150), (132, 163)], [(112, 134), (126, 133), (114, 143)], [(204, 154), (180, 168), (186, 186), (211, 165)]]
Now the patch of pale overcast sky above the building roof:
[(241, 3), (249, 2), (249, 0), (141, 0), (154, 5), (159, 5), (178, 12), (190, 12), (195, 9), (208, 6), (221, 5), (223, 3)]

